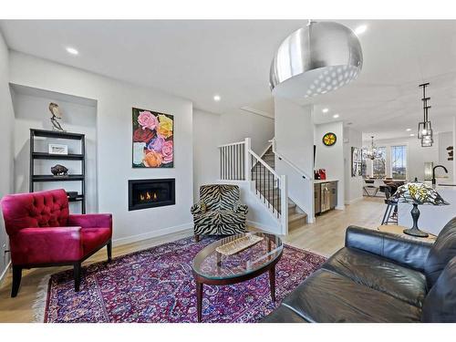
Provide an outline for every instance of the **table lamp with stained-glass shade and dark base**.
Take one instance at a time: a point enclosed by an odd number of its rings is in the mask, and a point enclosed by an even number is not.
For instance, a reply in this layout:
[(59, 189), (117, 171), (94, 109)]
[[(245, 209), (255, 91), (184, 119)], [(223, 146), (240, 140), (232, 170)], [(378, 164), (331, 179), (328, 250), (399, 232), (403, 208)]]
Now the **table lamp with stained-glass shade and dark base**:
[(404, 233), (418, 236), (428, 237), (428, 233), (421, 232), (418, 228), (418, 219), (420, 218), (419, 205), (449, 205), (449, 202), (443, 200), (438, 192), (433, 190), (429, 185), (423, 184), (415, 179), (407, 184), (399, 186), (392, 198), (399, 202), (410, 203), (413, 205), (411, 209), (411, 218), (413, 219), (413, 227), (405, 229)]

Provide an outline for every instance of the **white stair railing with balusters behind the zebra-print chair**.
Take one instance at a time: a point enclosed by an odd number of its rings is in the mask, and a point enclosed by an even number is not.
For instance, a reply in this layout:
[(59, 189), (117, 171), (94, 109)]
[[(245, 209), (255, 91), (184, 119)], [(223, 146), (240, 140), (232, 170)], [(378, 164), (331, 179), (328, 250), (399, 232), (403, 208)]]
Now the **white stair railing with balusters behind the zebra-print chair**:
[(226, 181), (253, 181), (254, 193), (288, 233), (288, 190), (286, 176), (278, 175), (251, 148), (250, 138), (219, 146), (220, 178)]

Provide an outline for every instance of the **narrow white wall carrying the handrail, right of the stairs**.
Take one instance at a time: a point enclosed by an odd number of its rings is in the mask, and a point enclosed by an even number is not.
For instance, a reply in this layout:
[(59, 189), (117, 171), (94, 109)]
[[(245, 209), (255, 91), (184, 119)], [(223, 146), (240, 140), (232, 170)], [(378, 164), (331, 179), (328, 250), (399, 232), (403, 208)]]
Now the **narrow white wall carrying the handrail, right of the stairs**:
[[(314, 123), (312, 106), (302, 107), (286, 98), (275, 98), (275, 142), (276, 150), (297, 168), (313, 176)], [(303, 179), (285, 161), (275, 156), (275, 171), (285, 174), (288, 195), (293, 202), (307, 213), (308, 221), (314, 221), (313, 182)]]

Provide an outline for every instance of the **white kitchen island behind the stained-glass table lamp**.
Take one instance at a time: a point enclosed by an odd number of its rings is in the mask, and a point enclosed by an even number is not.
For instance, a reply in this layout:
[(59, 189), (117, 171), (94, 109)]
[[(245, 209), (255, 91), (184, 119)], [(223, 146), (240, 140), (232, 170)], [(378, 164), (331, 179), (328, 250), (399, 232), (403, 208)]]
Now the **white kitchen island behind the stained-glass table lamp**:
[[(449, 202), (450, 205), (419, 205), (420, 219), (418, 220), (418, 227), (423, 231), (437, 235), (445, 224), (456, 216), (456, 184), (438, 181), (437, 185), (433, 185), (432, 188), (439, 192), (443, 200)], [(413, 225), (410, 215), (411, 208), (411, 204), (399, 202), (399, 225), (406, 227)]]

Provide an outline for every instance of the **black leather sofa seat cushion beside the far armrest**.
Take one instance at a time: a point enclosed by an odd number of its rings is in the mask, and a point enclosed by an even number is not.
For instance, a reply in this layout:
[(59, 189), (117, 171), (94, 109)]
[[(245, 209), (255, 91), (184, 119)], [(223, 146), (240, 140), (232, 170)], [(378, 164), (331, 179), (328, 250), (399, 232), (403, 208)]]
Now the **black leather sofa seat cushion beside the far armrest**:
[(375, 254), (345, 247), (322, 267), (413, 306), (422, 306), (426, 296), (426, 277), (422, 273)]

